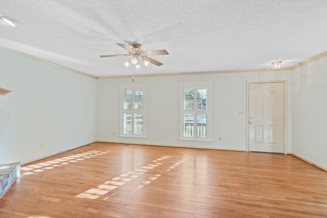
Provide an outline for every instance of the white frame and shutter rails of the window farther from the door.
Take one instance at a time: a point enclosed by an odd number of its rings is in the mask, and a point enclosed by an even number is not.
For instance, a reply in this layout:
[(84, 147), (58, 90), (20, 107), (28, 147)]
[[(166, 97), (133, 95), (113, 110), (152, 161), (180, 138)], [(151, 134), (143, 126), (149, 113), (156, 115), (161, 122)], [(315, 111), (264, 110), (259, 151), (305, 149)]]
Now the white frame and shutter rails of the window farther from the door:
[[(132, 109), (124, 109), (124, 93), (126, 89), (132, 89), (133, 97), (132, 97)], [(135, 89), (143, 89), (143, 109), (134, 109), (134, 96)], [(147, 85), (146, 84), (128, 84), (121, 85), (121, 137), (132, 137), (132, 138), (146, 138), (146, 127), (147, 127), (147, 119), (146, 119), (146, 105), (147, 105)], [(124, 113), (132, 113), (132, 133), (126, 134), (124, 133)], [(134, 133), (134, 114), (142, 113), (143, 114), (143, 134), (135, 134)]]

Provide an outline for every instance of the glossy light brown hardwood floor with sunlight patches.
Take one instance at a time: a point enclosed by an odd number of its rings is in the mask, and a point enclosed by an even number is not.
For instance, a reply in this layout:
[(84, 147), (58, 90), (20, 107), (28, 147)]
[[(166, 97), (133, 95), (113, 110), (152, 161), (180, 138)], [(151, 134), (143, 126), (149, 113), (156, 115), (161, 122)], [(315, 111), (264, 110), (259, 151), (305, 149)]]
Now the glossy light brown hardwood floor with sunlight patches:
[(327, 173), (291, 155), (96, 142), (23, 165), (0, 217), (327, 217)]

